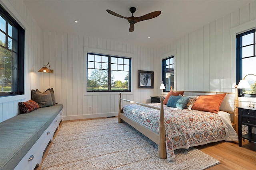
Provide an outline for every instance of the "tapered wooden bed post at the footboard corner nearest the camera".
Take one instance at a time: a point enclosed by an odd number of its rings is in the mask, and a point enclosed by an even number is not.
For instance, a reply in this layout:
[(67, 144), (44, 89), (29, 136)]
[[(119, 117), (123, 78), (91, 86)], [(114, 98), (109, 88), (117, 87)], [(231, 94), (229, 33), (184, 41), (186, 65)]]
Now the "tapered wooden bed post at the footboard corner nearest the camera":
[(161, 159), (166, 158), (166, 145), (165, 145), (165, 123), (164, 123), (164, 98), (160, 98), (160, 120), (159, 120), (159, 143), (158, 143), (158, 156)]

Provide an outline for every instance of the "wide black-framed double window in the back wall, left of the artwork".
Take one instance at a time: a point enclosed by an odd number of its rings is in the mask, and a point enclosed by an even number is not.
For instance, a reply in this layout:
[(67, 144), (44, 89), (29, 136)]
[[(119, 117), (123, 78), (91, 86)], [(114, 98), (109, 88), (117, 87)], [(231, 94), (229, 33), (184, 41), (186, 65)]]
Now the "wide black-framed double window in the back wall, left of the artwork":
[(87, 92), (131, 92), (131, 59), (87, 53)]

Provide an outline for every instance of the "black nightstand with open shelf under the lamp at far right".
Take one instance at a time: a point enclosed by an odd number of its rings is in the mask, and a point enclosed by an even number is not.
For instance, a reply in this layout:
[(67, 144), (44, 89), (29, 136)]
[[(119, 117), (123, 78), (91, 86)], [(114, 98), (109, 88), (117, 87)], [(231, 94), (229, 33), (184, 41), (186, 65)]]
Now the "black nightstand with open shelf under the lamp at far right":
[[(252, 127), (256, 127), (256, 108), (237, 107), (238, 108), (238, 145), (242, 146), (242, 139), (249, 142), (256, 142), (256, 134), (252, 133)], [(248, 133), (242, 134), (242, 125), (248, 126)]]

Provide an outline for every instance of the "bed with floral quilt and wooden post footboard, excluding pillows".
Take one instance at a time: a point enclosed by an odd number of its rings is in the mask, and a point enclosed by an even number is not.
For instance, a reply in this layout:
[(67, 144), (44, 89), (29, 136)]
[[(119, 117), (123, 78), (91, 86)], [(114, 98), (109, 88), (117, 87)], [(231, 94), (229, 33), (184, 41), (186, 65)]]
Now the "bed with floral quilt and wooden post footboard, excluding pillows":
[[(121, 106), (121, 101), (131, 104)], [(163, 104), (141, 104), (121, 98), (118, 122), (125, 121), (158, 144), (158, 156), (173, 160), (174, 150), (217, 141), (237, 141), (238, 136), (225, 111), (211, 113), (194, 109), (178, 109)]]

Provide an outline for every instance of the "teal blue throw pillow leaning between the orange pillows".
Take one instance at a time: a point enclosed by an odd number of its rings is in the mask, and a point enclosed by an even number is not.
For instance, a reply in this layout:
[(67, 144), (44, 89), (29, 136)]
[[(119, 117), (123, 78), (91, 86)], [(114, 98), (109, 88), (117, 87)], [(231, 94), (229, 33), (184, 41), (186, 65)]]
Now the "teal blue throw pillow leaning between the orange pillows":
[(166, 106), (184, 109), (188, 103), (189, 97), (186, 96), (170, 96)]

